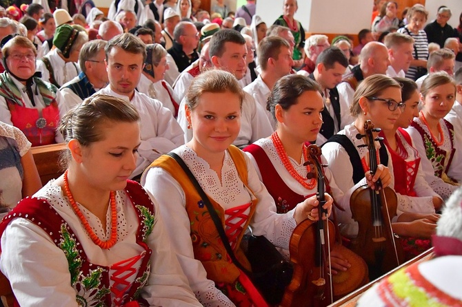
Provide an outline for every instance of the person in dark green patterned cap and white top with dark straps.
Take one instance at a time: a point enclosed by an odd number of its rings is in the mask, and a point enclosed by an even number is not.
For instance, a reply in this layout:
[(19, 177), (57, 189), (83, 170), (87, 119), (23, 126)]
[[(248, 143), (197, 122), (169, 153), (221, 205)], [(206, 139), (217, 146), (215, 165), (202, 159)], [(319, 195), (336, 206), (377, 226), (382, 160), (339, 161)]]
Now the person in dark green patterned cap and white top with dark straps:
[(79, 52), (87, 41), (88, 35), (85, 31), (66, 24), (59, 26), (53, 38), (56, 48), (37, 63), (37, 71), (41, 72), (43, 80), (59, 88), (75, 78), (79, 74)]

